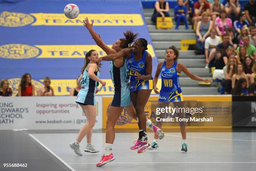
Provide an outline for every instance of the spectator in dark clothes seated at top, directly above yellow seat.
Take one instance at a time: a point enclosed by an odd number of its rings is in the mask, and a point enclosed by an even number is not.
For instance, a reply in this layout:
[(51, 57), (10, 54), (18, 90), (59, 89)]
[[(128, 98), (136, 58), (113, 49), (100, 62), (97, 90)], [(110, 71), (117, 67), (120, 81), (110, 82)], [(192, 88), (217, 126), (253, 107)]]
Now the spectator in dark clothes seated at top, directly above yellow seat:
[(164, 1), (164, 0), (159, 0), (156, 1), (155, 3), (155, 9), (154, 9), (154, 13), (151, 17), (151, 20), (156, 23), (156, 18), (157, 17), (162, 17), (162, 19), (164, 20), (165, 17), (170, 17), (169, 14), (169, 3)]

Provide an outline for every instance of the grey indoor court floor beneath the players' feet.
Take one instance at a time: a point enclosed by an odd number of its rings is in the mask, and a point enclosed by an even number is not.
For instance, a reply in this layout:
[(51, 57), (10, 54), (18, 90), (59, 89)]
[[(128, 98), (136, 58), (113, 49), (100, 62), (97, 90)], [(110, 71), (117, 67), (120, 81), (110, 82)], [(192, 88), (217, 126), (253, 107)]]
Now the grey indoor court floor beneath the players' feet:
[[(67, 132), (67, 133), (66, 133)], [(76, 131), (0, 131), (0, 170), (78, 171), (255, 171), (256, 132), (188, 132), (188, 153), (180, 153), (181, 134), (169, 132), (159, 141), (160, 148), (138, 154), (130, 150), (138, 133), (116, 133), (115, 161), (96, 167), (105, 146), (105, 133), (95, 131), (92, 143), (99, 153), (77, 156), (69, 143)], [(3, 140), (3, 137), (7, 140)], [(153, 140), (153, 133), (148, 139)], [(7, 141), (14, 144), (8, 144)], [(5, 145), (3, 146), (3, 143)], [(7, 143), (7, 144), (6, 144)], [(7, 145), (7, 146), (6, 146)], [(84, 151), (86, 141), (81, 142)], [(40, 151), (41, 150), (41, 151)], [(23, 154), (22, 154), (23, 153)], [(45, 156), (44, 156), (45, 155)], [(5, 156), (5, 157), (3, 157)], [(17, 161), (20, 157), (20, 161)], [(6, 161), (5, 161), (6, 160)], [(28, 163), (27, 168), (3, 168), (3, 163)], [(16, 160), (16, 161), (15, 161)]]

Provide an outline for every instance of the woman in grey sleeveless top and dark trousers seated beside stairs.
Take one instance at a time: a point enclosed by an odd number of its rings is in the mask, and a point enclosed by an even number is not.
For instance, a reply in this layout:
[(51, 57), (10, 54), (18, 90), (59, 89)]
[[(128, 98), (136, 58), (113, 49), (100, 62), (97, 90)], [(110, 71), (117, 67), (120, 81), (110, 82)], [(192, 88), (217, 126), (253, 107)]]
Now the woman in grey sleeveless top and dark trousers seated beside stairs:
[(204, 54), (205, 52), (205, 39), (210, 35), (210, 30), (213, 26), (213, 22), (208, 17), (207, 12), (202, 13), (202, 21), (197, 23), (196, 54)]

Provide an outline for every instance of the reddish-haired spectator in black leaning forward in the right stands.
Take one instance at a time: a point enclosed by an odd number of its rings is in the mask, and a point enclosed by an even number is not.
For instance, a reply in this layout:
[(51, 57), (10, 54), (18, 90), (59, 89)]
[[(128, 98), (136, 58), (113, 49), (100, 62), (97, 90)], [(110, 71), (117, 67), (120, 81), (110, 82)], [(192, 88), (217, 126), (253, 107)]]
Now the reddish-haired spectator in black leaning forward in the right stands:
[(215, 68), (223, 69), (223, 67), (227, 65), (229, 58), (235, 58), (235, 48), (231, 46), (226, 49), (226, 53), (223, 53), (220, 58), (216, 60)]

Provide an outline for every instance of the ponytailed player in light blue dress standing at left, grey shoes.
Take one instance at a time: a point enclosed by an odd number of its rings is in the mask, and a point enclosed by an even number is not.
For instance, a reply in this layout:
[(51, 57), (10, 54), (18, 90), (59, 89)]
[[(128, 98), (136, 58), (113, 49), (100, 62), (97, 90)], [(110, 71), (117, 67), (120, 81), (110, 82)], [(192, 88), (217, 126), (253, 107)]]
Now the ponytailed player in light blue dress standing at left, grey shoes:
[(82, 68), (82, 75), (77, 80), (77, 84), (81, 86), (81, 89), (77, 95), (76, 103), (78, 103), (87, 118), (87, 123), (81, 128), (75, 141), (69, 143), (70, 148), (74, 150), (79, 156), (82, 156), (80, 151), (80, 142), (87, 136), (87, 146), (85, 152), (97, 153), (97, 150), (92, 146), (92, 128), (95, 125), (97, 108), (95, 103), (95, 92), (97, 89), (97, 82), (102, 86), (106, 85), (106, 82), (99, 78), (99, 68), (97, 60), (99, 54), (96, 50), (90, 50), (85, 55), (85, 63)]

